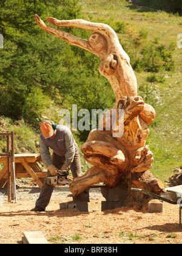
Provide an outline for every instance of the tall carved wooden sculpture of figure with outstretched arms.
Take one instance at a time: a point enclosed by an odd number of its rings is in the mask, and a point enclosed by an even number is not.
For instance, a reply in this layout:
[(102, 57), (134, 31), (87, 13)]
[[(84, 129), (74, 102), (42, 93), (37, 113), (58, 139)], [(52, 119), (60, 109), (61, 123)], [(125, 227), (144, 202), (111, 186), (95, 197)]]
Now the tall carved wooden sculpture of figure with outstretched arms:
[(99, 73), (109, 80), (115, 93), (116, 102), (112, 109), (116, 112), (124, 110), (123, 136), (115, 137), (114, 130), (106, 129), (108, 120), (105, 116), (101, 120), (103, 130), (92, 130), (86, 143), (81, 146), (84, 158), (93, 166), (70, 184), (73, 196), (95, 183), (104, 182), (107, 187), (114, 187), (121, 180), (127, 187), (135, 185), (160, 194), (164, 186), (148, 171), (152, 167), (153, 154), (146, 145), (149, 135), (147, 125), (153, 122), (155, 110), (137, 96), (137, 82), (129, 56), (121, 47), (115, 31), (101, 23), (47, 18), (55, 26), (79, 27), (93, 31), (89, 40), (84, 40), (47, 26), (38, 15), (35, 15), (35, 21), (50, 34), (97, 55), (101, 59)]

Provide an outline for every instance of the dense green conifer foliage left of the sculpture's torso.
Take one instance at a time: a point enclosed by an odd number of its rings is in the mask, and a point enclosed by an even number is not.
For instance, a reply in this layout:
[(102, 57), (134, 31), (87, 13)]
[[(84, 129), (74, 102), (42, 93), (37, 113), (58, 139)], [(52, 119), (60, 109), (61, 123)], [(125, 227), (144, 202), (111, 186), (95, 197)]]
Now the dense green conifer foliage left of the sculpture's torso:
[[(0, 8), (0, 115), (23, 117), (33, 124), (50, 99), (59, 104), (67, 99), (81, 108), (103, 107), (107, 90), (101, 91), (104, 79), (96, 72), (98, 58), (45, 33), (33, 18), (34, 13), (42, 20), (81, 18), (78, 0), (3, 0)], [(88, 36), (84, 30), (66, 30)], [(106, 80), (104, 84), (109, 87)]]

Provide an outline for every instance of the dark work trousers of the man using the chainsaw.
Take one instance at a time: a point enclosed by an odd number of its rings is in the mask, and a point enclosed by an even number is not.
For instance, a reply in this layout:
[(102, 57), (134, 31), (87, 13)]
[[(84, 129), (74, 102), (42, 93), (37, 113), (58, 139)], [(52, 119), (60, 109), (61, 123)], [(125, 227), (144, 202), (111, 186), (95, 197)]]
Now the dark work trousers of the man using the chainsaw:
[[(62, 165), (64, 165), (65, 158), (59, 157), (59, 155), (56, 155), (53, 153), (52, 155), (52, 163), (56, 166), (56, 168), (61, 169)], [(70, 165), (73, 178), (82, 176), (81, 172), (81, 161), (80, 161), (80, 155), (79, 155), (79, 149), (76, 149), (75, 151), (75, 157), (73, 159), (72, 165)], [(47, 170), (47, 176), (49, 175), (49, 171)], [(45, 210), (45, 207), (49, 205), (50, 197), (52, 196), (53, 189), (55, 186), (49, 185), (46, 182), (46, 179), (44, 180), (44, 184), (41, 188), (41, 193), (39, 194), (39, 198), (36, 201), (36, 206), (41, 207)]]

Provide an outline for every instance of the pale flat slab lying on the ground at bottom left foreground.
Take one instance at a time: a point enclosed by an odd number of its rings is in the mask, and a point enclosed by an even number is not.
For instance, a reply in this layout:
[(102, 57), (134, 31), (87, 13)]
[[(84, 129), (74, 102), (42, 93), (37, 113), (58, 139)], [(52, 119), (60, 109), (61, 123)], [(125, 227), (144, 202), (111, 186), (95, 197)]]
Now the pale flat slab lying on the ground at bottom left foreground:
[(27, 244), (49, 244), (41, 231), (26, 231), (23, 233), (22, 241)]

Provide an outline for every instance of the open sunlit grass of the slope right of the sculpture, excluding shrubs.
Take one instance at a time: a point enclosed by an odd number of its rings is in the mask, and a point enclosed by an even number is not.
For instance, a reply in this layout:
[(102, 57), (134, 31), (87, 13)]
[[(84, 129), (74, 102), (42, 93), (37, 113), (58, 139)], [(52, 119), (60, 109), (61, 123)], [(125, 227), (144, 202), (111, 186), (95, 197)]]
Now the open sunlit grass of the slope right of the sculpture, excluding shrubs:
[[(143, 12), (133, 9), (126, 1), (91, 1), (83, 0), (83, 10), (86, 17), (95, 21), (102, 16), (106, 20), (120, 20), (129, 23), (136, 30), (148, 32), (149, 40), (157, 40), (169, 46), (174, 43), (174, 73), (158, 73), (164, 76), (163, 83), (149, 83), (155, 95), (153, 107), (157, 112), (155, 122), (150, 125), (150, 135), (147, 144), (154, 155), (151, 171), (161, 180), (167, 180), (173, 168), (180, 166), (181, 161), (181, 84), (182, 84), (182, 49), (177, 48), (177, 35), (180, 34), (182, 18), (166, 12)], [(124, 37), (125, 35), (123, 35)], [(123, 38), (124, 40), (124, 38)], [(138, 87), (146, 81), (149, 73), (136, 73)]]

